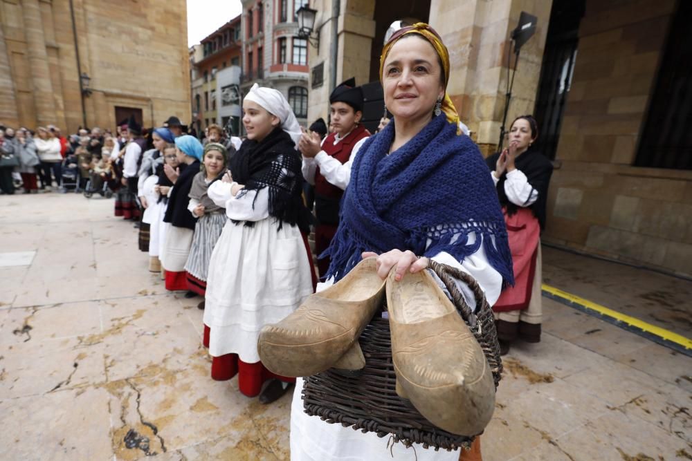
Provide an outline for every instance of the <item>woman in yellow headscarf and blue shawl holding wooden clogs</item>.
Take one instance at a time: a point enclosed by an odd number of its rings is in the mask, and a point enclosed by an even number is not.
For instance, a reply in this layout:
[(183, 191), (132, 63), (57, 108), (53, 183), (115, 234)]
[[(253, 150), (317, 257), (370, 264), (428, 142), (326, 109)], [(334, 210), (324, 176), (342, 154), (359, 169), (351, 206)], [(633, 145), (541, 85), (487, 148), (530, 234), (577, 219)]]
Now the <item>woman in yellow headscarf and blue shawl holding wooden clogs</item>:
[[(362, 258), (376, 256), (379, 276), (385, 279), (393, 270), (397, 283), (425, 270), (430, 258), (469, 272), (492, 305), (502, 285), (513, 283), (507, 231), (480, 151), (460, 132), (446, 94), (447, 48), (425, 23), (401, 28), (385, 44), (380, 76), (394, 117), (354, 155), (338, 231), (326, 252), (327, 278), (339, 281)], [(301, 389), (298, 379), (291, 410), (293, 461), (459, 458), (458, 451), (420, 445), (394, 444), (390, 452), (387, 438), (305, 414)]]

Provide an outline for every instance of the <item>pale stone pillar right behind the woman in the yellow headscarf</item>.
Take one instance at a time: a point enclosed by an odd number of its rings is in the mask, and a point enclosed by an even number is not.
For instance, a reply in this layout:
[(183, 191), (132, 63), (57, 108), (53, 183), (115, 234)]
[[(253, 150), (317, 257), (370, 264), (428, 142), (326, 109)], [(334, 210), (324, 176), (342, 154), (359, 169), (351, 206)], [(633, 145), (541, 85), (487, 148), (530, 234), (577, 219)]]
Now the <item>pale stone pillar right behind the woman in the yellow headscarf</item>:
[[(511, 31), (522, 10), (538, 17), (536, 34), (522, 47), (507, 124), (531, 113), (536, 102), (540, 64), (552, 0), (432, 0), (430, 24), (450, 53), (447, 93), (459, 117), (474, 132), (484, 155), (500, 137), (507, 85), (507, 52)], [(513, 56), (513, 55), (512, 55)], [(511, 62), (513, 65), (513, 61)], [(509, 130), (509, 126), (505, 126)]]

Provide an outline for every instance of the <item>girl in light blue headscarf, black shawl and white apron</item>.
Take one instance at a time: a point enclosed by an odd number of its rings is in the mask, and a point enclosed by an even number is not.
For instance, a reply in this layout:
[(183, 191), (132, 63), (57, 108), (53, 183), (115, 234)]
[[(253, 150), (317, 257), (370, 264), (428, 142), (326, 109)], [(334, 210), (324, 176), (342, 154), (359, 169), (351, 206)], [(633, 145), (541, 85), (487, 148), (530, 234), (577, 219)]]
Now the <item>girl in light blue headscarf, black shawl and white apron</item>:
[[(166, 290), (187, 290), (188, 283), (185, 279), (185, 262), (188, 261), (192, 234), (197, 218), (190, 214), (190, 187), (194, 175), (199, 173), (202, 159), (202, 144), (194, 136), (184, 135), (175, 140), (176, 156), (181, 164), (178, 171), (169, 173), (174, 186), (169, 193), (168, 208), (163, 217), (164, 223), (169, 223), (161, 256), (161, 264), (165, 273)], [(185, 294), (185, 297), (193, 297), (194, 293)]]

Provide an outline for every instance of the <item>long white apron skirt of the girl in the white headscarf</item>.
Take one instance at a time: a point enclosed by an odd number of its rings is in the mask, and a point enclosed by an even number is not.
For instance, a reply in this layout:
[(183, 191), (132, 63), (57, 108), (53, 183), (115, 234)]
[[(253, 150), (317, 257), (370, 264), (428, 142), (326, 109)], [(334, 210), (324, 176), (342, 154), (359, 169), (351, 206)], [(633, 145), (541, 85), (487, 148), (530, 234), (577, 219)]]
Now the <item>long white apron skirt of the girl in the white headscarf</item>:
[(209, 262), (204, 324), (209, 353), (260, 361), (257, 339), (268, 323), (298, 308), (312, 293), (310, 261), (298, 227), (275, 218), (253, 227), (228, 220)]

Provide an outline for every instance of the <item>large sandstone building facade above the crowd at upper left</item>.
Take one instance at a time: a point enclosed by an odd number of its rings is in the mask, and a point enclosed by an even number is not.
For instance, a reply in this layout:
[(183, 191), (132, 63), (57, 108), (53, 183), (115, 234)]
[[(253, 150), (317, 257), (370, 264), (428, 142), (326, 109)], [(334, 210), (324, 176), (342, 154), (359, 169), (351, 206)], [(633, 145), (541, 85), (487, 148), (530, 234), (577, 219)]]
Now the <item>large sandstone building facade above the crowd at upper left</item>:
[(187, 30), (183, 0), (0, 1), (0, 122), (73, 132), (129, 113), (144, 126), (190, 120)]

